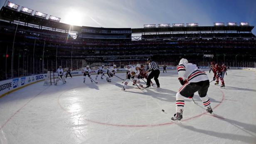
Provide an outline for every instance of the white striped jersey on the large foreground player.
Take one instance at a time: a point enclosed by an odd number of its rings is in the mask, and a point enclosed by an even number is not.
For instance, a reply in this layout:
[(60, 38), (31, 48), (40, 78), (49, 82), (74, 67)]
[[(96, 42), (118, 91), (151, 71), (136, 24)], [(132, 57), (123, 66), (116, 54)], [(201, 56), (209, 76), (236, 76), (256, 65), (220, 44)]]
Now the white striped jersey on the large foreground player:
[(177, 66), (179, 78), (187, 80), (190, 83), (209, 80), (207, 74), (202, 71), (197, 65), (192, 63), (182, 63)]

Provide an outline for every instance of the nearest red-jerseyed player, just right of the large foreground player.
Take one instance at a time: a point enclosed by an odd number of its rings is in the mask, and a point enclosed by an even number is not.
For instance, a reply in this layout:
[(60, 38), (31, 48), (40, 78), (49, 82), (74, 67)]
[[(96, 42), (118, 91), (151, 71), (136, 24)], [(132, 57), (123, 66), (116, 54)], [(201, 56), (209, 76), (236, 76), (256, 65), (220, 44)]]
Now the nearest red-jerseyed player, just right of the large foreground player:
[(219, 84), (219, 80), (222, 82), (222, 85), (220, 86), (221, 88), (225, 87), (225, 83), (224, 83), (224, 68), (222, 66), (220, 66), (218, 63), (215, 64), (214, 62), (211, 63), (211, 65), (213, 66), (212, 70), (214, 73), (214, 77), (213, 77), (213, 81), (216, 80), (215, 85)]

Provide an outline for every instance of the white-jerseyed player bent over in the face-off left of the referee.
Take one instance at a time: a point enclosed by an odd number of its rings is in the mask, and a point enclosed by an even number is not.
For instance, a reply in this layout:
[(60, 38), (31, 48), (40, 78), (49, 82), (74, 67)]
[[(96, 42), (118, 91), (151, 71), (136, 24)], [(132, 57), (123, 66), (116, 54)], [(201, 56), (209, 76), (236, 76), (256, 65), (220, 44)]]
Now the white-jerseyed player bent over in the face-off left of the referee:
[(140, 83), (140, 80), (137, 78), (138, 75), (140, 74), (140, 64), (137, 64), (137, 66), (135, 68), (126, 68), (126, 71), (128, 72), (127, 75), (127, 79), (123, 85), (122, 90), (126, 90), (126, 86), (130, 81), (130, 78), (132, 78), (133, 81), (135, 81), (135, 83), (138, 83), (141, 87), (143, 87), (143, 85)]

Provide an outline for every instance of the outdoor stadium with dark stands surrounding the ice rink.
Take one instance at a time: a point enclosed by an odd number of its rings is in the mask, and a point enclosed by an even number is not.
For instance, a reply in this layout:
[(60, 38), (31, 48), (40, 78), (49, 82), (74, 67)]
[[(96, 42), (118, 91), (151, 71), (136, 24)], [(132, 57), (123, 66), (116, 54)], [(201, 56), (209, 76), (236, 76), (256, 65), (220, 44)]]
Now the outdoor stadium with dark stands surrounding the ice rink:
[[(0, 10), (0, 143), (256, 143), (251, 23), (106, 28), (60, 20), (13, 2)], [(171, 117), (180, 106), (177, 90), (186, 85), (178, 80), (182, 58), (209, 77), (214, 115), (205, 111), (202, 101), (208, 101), (200, 92), (183, 95), (183, 121), (177, 124)], [(214, 75), (212, 63), (226, 70)], [(160, 71), (160, 85), (154, 79), (148, 85), (150, 74), (129, 75), (147, 65), (147, 73)], [(59, 69), (66, 78), (59, 78)]]

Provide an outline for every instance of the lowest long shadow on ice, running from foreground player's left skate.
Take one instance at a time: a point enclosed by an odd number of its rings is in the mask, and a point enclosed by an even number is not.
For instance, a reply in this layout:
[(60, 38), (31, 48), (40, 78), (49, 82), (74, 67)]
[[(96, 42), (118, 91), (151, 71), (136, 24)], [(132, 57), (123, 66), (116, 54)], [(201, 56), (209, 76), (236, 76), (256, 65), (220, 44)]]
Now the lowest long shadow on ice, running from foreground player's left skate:
[(224, 132), (214, 132), (209, 129), (198, 129), (196, 127), (185, 125), (185, 124), (177, 124), (177, 125), (184, 129), (191, 130), (193, 132), (207, 134), (209, 136), (218, 137), (218, 138), (222, 138), (222, 139), (242, 141), (242, 142), (249, 143), (249, 144), (256, 142), (256, 137), (244, 136), (244, 135), (239, 135), (239, 134), (230, 134), (230, 133), (224, 133)]

